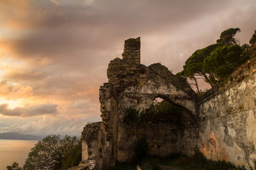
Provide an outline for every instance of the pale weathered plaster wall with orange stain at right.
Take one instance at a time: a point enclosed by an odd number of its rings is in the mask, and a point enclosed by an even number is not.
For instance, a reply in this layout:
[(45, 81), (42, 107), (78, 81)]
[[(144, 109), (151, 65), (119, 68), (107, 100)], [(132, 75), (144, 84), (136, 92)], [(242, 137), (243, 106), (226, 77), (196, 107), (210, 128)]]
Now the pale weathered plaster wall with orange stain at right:
[(199, 104), (198, 147), (208, 159), (254, 166), (256, 159), (255, 59), (243, 64), (215, 95)]

